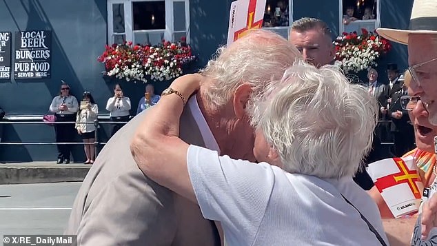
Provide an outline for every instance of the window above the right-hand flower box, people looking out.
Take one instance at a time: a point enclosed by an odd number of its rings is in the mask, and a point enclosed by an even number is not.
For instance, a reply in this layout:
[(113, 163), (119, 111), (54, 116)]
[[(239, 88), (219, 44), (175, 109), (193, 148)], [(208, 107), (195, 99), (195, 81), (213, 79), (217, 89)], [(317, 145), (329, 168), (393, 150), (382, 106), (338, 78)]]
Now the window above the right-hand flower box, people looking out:
[(357, 32), (361, 28), (373, 32), (380, 25), (380, 0), (339, 0), (340, 31)]

